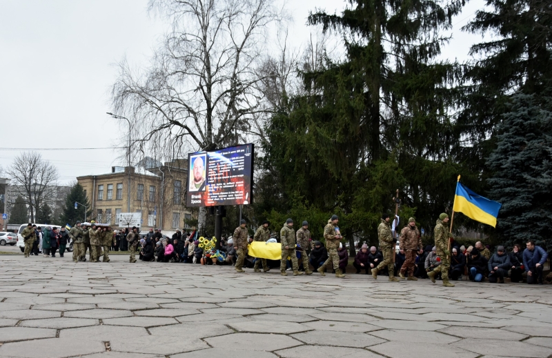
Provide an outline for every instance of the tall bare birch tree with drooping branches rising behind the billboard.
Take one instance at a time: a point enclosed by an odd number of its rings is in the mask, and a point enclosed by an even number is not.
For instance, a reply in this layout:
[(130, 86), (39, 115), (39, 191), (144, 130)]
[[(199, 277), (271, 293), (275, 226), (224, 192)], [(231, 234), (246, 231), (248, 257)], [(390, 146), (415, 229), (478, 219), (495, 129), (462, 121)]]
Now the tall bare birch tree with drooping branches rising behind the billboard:
[(282, 19), (272, 0), (151, 0), (172, 21), (147, 70), (126, 59), (112, 106), (131, 118), (134, 150), (183, 157), (238, 143), (259, 108), (259, 66), (270, 26)]

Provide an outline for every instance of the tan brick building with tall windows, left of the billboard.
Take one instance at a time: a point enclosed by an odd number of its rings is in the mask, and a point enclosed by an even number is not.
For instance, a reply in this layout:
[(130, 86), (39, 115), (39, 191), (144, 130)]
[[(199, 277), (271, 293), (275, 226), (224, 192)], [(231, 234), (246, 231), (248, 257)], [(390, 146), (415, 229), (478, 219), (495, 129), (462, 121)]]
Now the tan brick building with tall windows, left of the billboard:
[[(161, 163), (147, 158), (130, 167), (112, 167), (111, 172), (77, 177), (99, 223), (119, 226), (124, 212), (139, 213), (141, 230), (187, 228), (192, 214), (184, 206), (188, 170), (186, 159)], [(128, 195), (130, 188), (130, 197)]]

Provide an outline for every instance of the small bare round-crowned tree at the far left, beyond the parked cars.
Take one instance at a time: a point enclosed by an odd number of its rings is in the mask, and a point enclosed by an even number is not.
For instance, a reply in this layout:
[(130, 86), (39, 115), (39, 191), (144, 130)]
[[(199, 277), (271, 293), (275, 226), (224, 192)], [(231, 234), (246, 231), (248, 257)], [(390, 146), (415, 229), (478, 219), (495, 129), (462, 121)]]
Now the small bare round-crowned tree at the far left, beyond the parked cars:
[(37, 152), (23, 152), (8, 168), (15, 195), (21, 195), (28, 205), (31, 221), (34, 212), (52, 196), (58, 179), (57, 169)]

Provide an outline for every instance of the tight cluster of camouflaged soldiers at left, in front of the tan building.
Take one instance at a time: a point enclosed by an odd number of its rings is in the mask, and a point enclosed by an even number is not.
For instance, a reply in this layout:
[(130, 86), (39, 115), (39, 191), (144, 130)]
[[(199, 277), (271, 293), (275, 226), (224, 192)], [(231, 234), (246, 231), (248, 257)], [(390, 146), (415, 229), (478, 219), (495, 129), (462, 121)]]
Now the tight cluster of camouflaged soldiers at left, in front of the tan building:
[(90, 252), (88, 259), (98, 262), (103, 248), (103, 262), (109, 262), (109, 250), (115, 245), (115, 233), (108, 226), (81, 225), (77, 221), (69, 230), (69, 237), (73, 240), (73, 261), (86, 261), (86, 251)]

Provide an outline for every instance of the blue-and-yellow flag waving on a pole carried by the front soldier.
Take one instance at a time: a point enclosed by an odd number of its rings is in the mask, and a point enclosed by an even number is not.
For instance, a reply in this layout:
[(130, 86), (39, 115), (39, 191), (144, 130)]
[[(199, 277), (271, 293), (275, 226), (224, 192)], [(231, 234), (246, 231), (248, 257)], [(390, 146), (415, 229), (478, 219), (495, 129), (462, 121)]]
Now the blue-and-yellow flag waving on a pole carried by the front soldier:
[(462, 212), (466, 217), (489, 224), (495, 228), (496, 217), (501, 206), (501, 203), (475, 194), (475, 192), (462, 185), (460, 183), (460, 175), (458, 176), (453, 206), (455, 212)]

